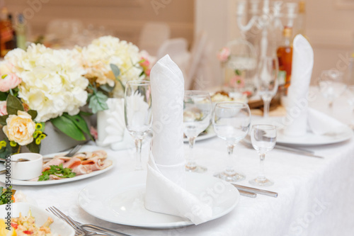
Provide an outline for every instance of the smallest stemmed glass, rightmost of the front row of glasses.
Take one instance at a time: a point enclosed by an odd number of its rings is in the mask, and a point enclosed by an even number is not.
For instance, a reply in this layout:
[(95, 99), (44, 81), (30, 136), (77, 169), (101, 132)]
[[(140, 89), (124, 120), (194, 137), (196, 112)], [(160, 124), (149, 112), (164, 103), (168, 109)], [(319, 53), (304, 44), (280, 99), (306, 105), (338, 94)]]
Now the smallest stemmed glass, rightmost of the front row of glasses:
[(267, 179), (264, 174), (265, 154), (273, 150), (277, 140), (277, 129), (274, 125), (253, 125), (251, 130), (251, 142), (253, 148), (258, 152), (260, 158), (261, 171), (256, 179), (249, 181), (256, 186), (270, 186), (274, 182)]

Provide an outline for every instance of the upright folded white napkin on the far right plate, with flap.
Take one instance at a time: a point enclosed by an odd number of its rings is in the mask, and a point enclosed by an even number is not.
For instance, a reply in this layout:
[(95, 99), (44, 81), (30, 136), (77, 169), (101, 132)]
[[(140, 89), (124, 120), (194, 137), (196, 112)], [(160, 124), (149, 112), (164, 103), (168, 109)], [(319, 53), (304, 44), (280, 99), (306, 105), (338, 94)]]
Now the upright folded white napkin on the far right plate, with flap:
[(346, 125), (320, 111), (308, 107), (309, 83), (314, 65), (314, 51), (309, 42), (297, 35), (292, 51), (292, 79), (288, 90), (284, 134), (302, 136), (342, 133)]

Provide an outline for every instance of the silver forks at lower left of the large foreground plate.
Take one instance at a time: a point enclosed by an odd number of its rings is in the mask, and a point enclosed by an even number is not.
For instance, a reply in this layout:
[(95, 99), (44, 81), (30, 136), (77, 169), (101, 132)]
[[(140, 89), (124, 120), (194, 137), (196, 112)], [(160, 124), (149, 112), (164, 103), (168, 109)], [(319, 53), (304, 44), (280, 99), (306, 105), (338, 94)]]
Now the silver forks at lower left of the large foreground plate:
[(51, 206), (45, 210), (53, 213), (57, 217), (67, 222), (70, 226), (72, 226), (75, 230), (75, 235), (77, 234), (77, 236), (130, 236), (125, 233), (118, 232), (116, 230), (110, 230), (98, 225), (81, 224), (76, 220), (73, 220), (69, 215), (64, 214), (55, 206)]

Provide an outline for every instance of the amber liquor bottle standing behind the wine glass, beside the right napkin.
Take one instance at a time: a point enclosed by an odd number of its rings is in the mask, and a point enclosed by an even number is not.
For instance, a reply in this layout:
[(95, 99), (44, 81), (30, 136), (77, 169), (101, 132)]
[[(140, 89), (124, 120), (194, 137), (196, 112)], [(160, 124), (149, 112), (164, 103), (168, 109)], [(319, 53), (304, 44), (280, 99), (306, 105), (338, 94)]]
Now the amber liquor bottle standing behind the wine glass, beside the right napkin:
[(278, 47), (277, 56), (279, 62), (279, 89), (282, 95), (287, 95), (287, 89), (291, 81), (292, 67), (292, 28), (285, 27), (282, 33), (282, 44)]

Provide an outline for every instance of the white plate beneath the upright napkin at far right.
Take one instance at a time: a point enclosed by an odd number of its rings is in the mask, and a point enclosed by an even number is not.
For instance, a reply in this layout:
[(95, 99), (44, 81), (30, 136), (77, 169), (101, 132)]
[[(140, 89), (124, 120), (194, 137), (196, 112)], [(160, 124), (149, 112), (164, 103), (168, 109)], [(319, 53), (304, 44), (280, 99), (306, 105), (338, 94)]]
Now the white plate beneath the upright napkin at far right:
[(353, 130), (349, 127), (347, 127), (346, 130), (343, 130), (342, 133), (335, 135), (316, 135), (314, 133), (307, 133), (306, 135), (299, 137), (284, 135), (283, 130), (279, 130), (277, 135), (277, 143), (301, 146), (329, 145), (346, 141), (351, 137), (353, 137)]

